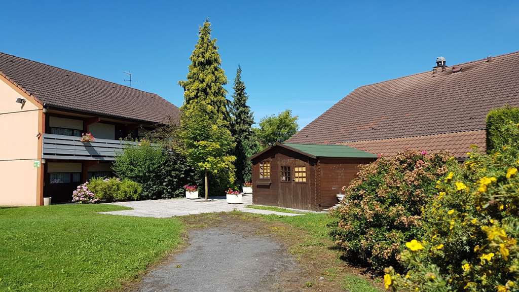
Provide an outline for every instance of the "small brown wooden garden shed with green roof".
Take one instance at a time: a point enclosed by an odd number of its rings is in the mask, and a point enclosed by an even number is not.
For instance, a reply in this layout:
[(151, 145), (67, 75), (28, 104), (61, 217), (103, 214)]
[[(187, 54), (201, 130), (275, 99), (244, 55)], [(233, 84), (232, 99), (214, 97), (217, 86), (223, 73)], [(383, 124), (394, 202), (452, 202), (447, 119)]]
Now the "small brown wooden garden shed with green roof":
[(276, 143), (251, 157), (253, 203), (304, 210), (337, 204), (336, 195), (377, 155), (345, 145)]

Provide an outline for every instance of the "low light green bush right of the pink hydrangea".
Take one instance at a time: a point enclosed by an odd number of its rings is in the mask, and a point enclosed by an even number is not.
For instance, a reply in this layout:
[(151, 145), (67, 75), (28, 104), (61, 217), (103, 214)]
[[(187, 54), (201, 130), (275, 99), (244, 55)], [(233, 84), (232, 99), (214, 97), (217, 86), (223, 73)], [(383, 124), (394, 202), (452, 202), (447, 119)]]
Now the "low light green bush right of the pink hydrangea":
[(88, 189), (94, 196), (105, 202), (141, 200), (142, 187), (134, 181), (118, 178), (93, 178)]

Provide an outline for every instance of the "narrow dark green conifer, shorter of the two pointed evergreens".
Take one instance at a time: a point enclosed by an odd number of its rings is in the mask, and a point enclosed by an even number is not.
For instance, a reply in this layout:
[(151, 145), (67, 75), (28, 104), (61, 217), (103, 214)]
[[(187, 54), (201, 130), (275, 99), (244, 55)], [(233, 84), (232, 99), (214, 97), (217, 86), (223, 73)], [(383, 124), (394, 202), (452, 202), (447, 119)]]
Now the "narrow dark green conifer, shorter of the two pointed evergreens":
[(236, 147), (234, 155), (236, 156), (236, 182), (243, 183), (245, 179), (250, 178), (251, 163), (248, 159), (249, 139), (252, 134), (251, 126), (254, 124), (254, 116), (251, 108), (247, 105), (249, 99), (245, 92), (245, 84), (241, 80), (241, 67), (236, 70), (234, 78), (234, 94), (231, 103), (232, 126), (231, 132), (235, 137)]

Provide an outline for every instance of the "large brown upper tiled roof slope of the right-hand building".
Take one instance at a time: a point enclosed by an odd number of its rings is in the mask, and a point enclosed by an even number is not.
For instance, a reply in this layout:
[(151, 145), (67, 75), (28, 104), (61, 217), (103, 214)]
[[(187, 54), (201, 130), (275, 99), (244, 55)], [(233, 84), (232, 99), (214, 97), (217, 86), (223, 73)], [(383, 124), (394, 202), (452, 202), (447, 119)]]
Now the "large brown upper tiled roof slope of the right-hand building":
[[(458, 153), (458, 141), (440, 143), (434, 135), (483, 130), (488, 111), (503, 105), (519, 106), (519, 52), (361, 86), (287, 142), (367, 145), (421, 136), (431, 149)], [(392, 144), (384, 149), (395, 152)]]

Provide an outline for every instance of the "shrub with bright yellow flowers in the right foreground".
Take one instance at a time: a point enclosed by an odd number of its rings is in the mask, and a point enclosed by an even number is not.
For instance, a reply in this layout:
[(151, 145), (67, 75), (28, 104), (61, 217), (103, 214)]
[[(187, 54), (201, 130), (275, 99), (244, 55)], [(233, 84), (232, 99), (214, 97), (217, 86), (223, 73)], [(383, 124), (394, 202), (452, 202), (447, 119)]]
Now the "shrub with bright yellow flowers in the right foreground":
[(386, 269), (386, 286), (408, 291), (519, 291), (519, 124), (511, 142), (450, 166), (424, 210), (424, 232), (401, 258), (406, 275)]

